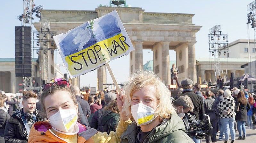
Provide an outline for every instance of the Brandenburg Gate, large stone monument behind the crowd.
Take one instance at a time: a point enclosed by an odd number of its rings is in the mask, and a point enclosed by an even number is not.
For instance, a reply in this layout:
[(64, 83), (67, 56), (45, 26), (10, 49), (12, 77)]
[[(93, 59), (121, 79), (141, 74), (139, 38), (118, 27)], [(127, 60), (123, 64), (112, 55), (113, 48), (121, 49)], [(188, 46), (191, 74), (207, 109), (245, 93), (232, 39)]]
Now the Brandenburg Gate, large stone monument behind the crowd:
[[(50, 23), (50, 30), (57, 34), (84, 22), (117, 10), (121, 21), (135, 47), (130, 53), (130, 74), (143, 69), (143, 49), (153, 51), (154, 72), (170, 84), (169, 50), (176, 51), (178, 78), (197, 81), (195, 61), (195, 33), (201, 26), (192, 23), (194, 14), (145, 12), (137, 7), (100, 6), (95, 11), (42, 10), (41, 21)], [(34, 23), (40, 31), (40, 22)], [(106, 83), (106, 67), (97, 69), (98, 89)]]

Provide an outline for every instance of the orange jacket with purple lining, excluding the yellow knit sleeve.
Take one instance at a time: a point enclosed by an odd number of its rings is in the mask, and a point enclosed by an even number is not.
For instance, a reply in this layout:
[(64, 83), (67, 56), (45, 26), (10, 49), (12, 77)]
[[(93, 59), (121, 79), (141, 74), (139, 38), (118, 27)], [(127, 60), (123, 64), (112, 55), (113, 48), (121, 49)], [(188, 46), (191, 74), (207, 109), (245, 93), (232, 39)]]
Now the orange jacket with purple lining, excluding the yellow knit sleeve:
[[(79, 127), (77, 142), (93, 143), (93, 139), (91, 137), (95, 135), (98, 131), (79, 123), (77, 123), (77, 125)], [(52, 133), (49, 130), (51, 128), (52, 127), (48, 121), (35, 123), (30, 130), (28, 143), (45, 143), (45, 142), (67, 143), (65, 140), (54, 135), (54, 133)]]

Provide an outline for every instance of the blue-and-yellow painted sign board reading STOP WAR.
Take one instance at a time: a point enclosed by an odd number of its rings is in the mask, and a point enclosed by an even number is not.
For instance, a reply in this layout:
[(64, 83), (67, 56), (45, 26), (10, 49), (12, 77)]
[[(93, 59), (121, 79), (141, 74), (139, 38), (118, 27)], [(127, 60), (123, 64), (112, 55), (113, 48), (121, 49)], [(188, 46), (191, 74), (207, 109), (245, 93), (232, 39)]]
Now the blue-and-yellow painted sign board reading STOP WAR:
[(70, 78), (95, 70), (134, 50), (117, 11), (53, 38)]

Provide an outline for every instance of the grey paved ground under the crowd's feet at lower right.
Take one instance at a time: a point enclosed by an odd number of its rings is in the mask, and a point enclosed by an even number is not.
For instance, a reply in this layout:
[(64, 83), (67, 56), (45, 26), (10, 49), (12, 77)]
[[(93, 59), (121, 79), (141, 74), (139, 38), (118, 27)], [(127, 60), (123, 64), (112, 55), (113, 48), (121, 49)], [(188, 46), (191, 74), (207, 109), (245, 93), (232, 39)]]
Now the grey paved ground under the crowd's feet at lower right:
[[(239, 137), (239, 133), (235, 133), (235, 139)], [(217, 142), (216, 143), (224, 143), (224, 140), (218, 140), (219, 136), (217, 136)], [(231, 139), (229, 137), (229, 139)], [(205, 139), (202, 139), (202, 143), (205, 143)], [(230, 143), (231, 140), (228, 141)], [(246, 130), (246, 139), (245, 140), (235, 140), (234, 143), (256, 143), (256, 130)]]

